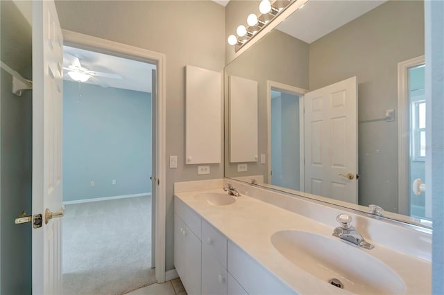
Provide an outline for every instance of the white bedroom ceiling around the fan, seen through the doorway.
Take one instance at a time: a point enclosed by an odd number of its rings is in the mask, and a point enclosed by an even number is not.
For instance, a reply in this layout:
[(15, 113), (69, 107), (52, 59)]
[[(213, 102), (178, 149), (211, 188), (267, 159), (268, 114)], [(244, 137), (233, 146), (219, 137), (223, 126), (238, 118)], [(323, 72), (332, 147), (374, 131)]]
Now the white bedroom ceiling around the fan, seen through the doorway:
[[(153, 64), (63, 46), (64, 68), (67, 68), (75, 57), (78, 57), (81, 66), (87, 68), (89, 71), (99, 71), (121, 75), (122, 79), (97, 77), (99, 80), (101, 80), (101, 82), (108, 84), (109, 87), (151, 93), (151, 70), (155, 69), (155, 65)], [(73, 81), (69, 75), (67, 75), (68, 71), (69, 70), (64, 69), (63, 79)], [(87, 80), (85, 83), (96, 84), (91, 79)]]

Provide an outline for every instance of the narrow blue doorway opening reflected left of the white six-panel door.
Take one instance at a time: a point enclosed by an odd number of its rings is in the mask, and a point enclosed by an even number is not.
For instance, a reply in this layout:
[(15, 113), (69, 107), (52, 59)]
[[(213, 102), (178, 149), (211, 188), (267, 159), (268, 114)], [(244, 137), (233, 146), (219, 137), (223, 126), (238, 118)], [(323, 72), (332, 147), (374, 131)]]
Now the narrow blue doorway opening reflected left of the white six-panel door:
[(271, 184), (300, 190), (300, 96), (271, 89)]

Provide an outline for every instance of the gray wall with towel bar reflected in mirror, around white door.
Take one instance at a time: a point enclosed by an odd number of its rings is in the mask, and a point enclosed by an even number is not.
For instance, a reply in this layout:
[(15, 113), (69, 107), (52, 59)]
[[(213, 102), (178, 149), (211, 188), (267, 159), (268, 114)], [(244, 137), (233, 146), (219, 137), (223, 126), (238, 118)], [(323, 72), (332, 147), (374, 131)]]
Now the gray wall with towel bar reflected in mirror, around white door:
[[(388, 1), (311, 43), (309, 89), (356, 75), (358, 120), (384, 117), (386, 109), (398, 118), (398, 62), (424, 55), (423, 6)], [(361, 122), (358, 134), (359, 204), (398, 212), (397, 120)]]

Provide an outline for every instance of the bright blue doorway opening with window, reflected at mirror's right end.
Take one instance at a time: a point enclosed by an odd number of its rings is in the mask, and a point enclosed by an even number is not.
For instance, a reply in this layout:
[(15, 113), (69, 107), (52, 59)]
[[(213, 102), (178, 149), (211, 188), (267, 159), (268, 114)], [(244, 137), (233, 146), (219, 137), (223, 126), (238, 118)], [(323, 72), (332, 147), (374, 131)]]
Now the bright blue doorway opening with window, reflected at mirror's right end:
[[(425, 183), (425, 64), (409, 69), (409, 106), (410, 106), (410, 184), (414, 179)], [(424, 192), (410, 190), (410, 215), (427, 219), (427, 202)], [(430, 208), (429, 208), (430, 209)]]

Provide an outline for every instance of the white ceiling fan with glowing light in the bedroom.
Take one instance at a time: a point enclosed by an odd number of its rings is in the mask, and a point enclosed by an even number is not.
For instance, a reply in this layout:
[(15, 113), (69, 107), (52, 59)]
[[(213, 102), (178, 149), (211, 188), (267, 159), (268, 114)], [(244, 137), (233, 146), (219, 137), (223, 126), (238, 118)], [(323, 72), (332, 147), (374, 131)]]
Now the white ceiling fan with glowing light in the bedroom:
[(63, 67), (67, 75), (78, 82), (86, 82), (87, 80), (92, 81), (94, 84), (98, 84), (101, 87), (109, 87), (108, 83), (101, 80), (101, 78), (112, 78), (122, 80), (122, 76), (116, 73), (105, 73), (99, 71), (89, 71), (85, 66), (80, 64), (80, 59), (69, 53), (65, 53), (66, 57), (69, 57), (69, 66)]

